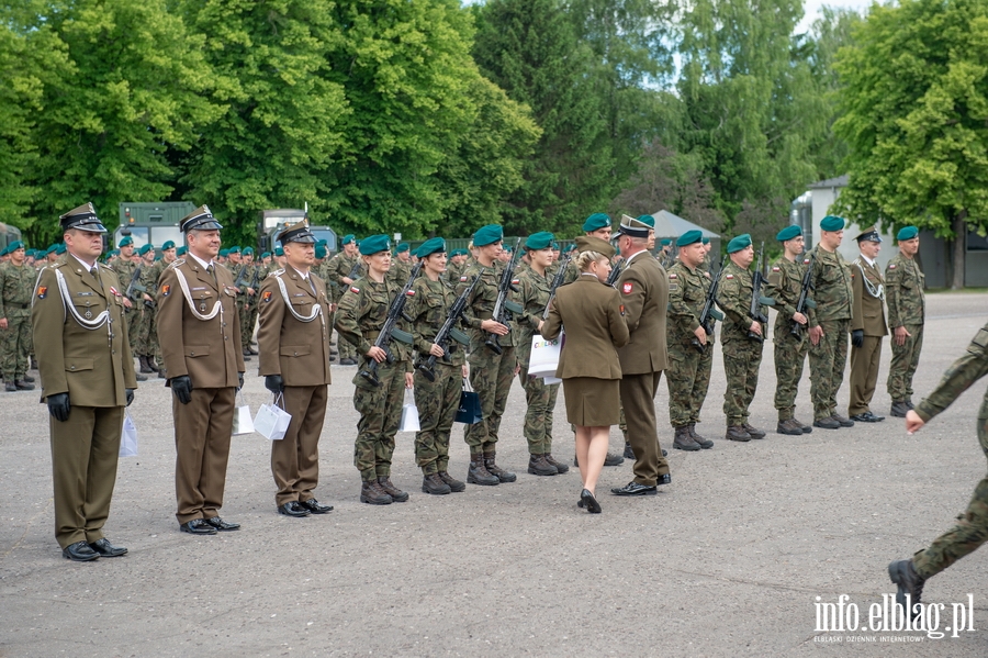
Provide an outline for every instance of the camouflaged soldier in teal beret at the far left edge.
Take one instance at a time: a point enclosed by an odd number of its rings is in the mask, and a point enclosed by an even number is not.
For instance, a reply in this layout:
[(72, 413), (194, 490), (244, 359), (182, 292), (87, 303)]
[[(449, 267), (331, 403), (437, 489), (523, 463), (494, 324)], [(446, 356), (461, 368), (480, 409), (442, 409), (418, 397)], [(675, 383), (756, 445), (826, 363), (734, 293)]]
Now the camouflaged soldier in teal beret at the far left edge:
[(10, 243), (8, 253), (10, 260), (0, 265), (0, 370), (8, 391), (31, 391), (34, 379), (27, 376), (27, 355), (36, 277), (24, 263), (24, 243)]

